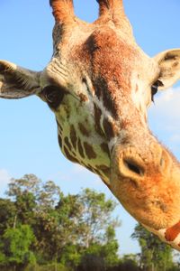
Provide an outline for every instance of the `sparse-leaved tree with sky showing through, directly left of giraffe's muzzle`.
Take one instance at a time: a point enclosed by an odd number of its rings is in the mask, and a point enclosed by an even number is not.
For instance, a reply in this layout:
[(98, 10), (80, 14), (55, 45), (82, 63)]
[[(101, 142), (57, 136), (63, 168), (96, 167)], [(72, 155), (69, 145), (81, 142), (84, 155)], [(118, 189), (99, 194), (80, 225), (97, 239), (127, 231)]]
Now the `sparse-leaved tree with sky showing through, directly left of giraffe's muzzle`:
[(116, 202), (106, 200), (103, 193), (90, 189), (82, 191), (78, 201), (82, 206), (78, 223), (83, 230), (78, 243), (84, 248), (79, 270), (104, 270), (117, 265), (119, 246), (115, 229), (120, 226), (120, 221), (112, 218)]

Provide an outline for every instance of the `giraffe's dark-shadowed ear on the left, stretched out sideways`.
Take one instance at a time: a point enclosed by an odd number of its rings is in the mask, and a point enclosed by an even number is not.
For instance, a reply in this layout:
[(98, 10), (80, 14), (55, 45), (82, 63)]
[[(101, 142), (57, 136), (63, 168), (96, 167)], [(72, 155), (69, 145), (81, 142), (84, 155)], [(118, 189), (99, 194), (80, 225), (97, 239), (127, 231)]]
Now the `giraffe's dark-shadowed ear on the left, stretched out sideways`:
[(0, 61), (0, 98), (24, 98), (40, 92), (40, 72)]

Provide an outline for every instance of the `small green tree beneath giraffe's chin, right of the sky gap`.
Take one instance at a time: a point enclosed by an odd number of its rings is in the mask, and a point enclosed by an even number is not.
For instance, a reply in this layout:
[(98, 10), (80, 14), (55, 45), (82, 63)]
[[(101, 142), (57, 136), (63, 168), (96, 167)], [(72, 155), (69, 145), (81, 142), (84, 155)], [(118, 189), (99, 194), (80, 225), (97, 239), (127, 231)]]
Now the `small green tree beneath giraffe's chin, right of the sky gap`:
[(145, 271), (166, 271), (173, 266), (172, 248), (141, 225), (135, 227), (131, 236), (139, 241), (140, 267)]

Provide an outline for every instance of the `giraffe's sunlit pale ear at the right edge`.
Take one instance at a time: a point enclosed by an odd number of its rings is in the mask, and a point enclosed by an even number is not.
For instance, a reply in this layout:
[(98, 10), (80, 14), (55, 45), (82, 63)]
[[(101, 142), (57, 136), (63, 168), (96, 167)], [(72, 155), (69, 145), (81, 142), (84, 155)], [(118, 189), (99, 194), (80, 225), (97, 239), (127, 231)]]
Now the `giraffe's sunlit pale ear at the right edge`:
[(180, 49), (160, 52), (154, 60), (160, 69), (158, 80), (162, 82), (158, 89), (170, 88), (180, 79)]

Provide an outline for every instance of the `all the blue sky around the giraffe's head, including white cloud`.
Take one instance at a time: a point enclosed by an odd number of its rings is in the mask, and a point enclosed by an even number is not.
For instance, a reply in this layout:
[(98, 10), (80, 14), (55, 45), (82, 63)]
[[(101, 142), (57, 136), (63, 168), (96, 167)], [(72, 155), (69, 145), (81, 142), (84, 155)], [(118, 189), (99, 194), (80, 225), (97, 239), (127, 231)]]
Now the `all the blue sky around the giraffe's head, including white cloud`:
[[(92, 22), (97, 17), (95, 0), (76, 0), (76, 14)], [(124, 0), (126, 14), (137, 42), (150, 56), (180, 47), (179, 0)], [(0, 59), (31, 70), (42, 70), (52, 54), (51, 30), (54, 20), (48, 0), (0, 1)], [(157, 137), (180, 158), (180, 84), (157, 95), (149, 109), (149, 125)], [(34, 173), (53, 180), (64, 192), (94, 188), (112, 197), (93, 174), (69, 163), (58, 149), (53, 114), (39, 98), (0, 99), (0, 194), (10, 177)], [(122, 253), (139, 251), (130, 239), (135, 220), (122, 209), (116, 210), (122, 225), (117, 231)]]

